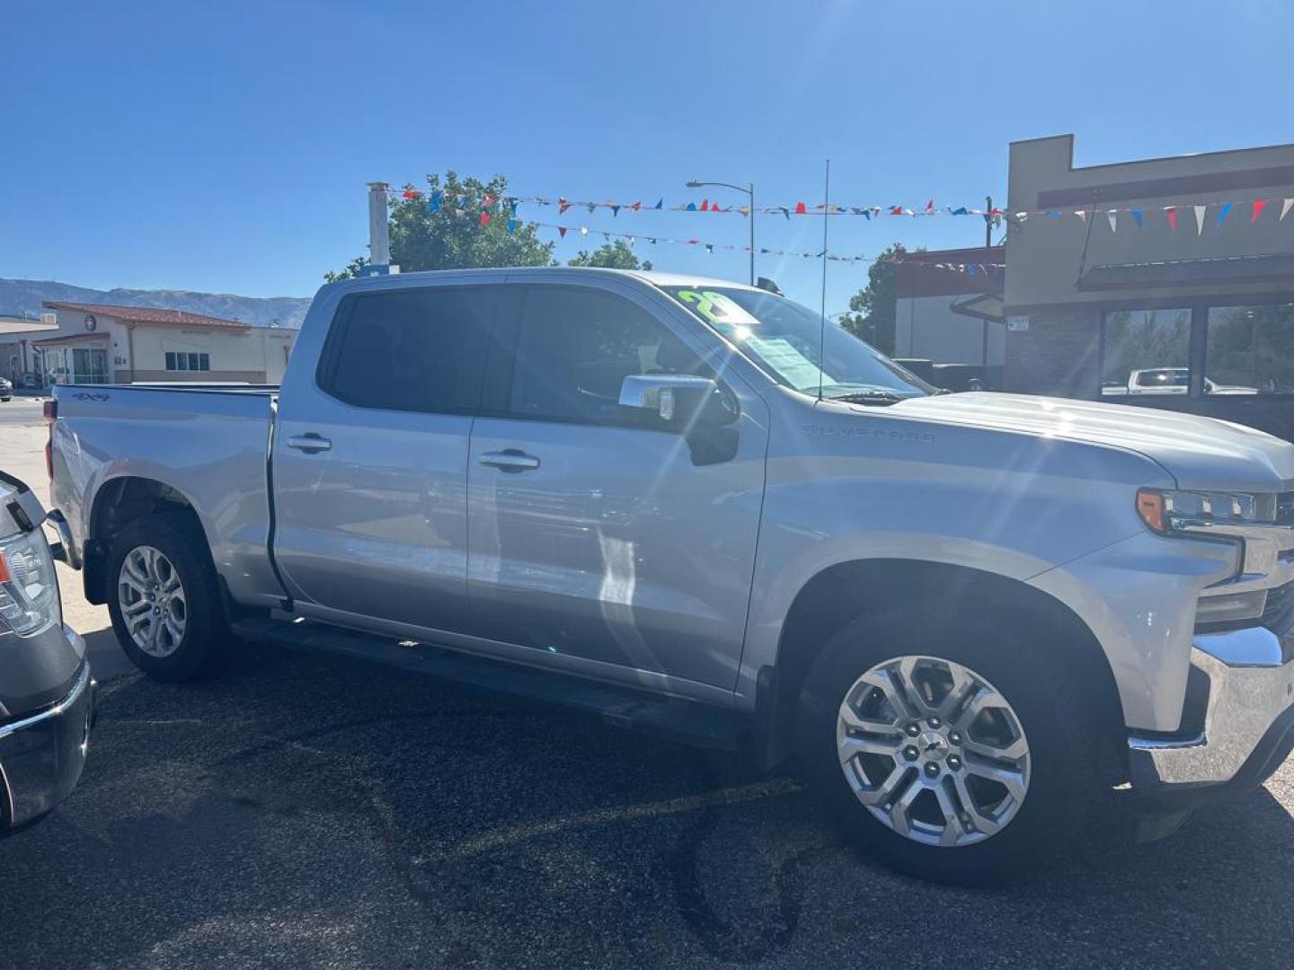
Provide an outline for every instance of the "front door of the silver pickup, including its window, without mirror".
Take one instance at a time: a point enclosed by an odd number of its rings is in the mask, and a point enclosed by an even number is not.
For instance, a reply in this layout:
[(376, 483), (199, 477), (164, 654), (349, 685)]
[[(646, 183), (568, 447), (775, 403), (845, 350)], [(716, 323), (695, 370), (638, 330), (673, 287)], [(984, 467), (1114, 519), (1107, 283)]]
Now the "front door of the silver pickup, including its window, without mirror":
[(487, 389), (467, 467), (474, 630), (593, 675), (731, 689), (763, 494), (762, 402), (729, 382), (738, 453), (696, 464), (678, 433), (617, 404), (630, 374), (709, 376), (646, 305), (528, 285), (518, 307), (511, 376), (497, 400), (493, 380)]

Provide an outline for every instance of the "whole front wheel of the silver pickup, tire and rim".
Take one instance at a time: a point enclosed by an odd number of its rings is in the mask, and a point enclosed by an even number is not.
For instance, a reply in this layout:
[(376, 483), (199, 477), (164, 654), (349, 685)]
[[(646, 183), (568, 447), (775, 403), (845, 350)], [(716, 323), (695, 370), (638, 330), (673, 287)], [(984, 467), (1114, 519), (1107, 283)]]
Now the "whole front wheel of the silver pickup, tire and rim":
[(1008, 620), (848, 623), (801, 692), (811, 784), (851, 841), (925, 879), (987, 883), (1053, 856), (1097, 784), (1097, 724), (1055, 643)]

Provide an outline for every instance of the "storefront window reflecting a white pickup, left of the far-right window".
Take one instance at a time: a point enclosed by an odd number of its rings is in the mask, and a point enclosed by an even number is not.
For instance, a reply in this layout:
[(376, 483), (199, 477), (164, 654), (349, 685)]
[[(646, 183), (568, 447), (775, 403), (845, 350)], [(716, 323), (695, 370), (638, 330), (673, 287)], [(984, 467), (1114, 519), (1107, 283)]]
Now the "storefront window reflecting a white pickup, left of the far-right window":
[(1113, 310), (1101, 343), (1102, 394), (1185, 394), (1190, 310)]

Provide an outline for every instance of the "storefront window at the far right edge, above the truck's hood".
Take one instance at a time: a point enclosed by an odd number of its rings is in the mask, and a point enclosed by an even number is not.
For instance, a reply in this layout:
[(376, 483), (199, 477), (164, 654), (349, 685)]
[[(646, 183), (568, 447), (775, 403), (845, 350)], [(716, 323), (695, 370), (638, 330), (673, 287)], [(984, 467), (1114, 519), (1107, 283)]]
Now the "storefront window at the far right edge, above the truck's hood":
[(1206, 394), (1294, 393), (1294, 304), (1210, 307)]

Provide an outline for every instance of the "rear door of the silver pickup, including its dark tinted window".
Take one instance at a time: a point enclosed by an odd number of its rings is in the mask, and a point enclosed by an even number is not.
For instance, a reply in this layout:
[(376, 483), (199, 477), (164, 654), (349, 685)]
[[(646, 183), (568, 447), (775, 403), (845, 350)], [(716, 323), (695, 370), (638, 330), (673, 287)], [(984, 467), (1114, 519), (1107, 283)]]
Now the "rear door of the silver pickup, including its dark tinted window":
[(497, 299), (489, 286), (349, 295), (317, 371), (285, 387), (274, 554), (302, 613), (459, 627), (467, 445)]

